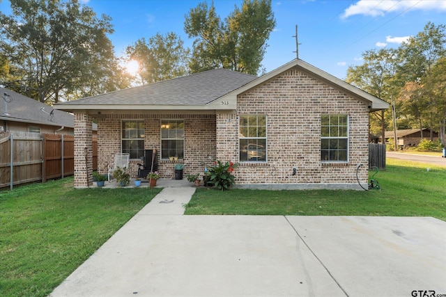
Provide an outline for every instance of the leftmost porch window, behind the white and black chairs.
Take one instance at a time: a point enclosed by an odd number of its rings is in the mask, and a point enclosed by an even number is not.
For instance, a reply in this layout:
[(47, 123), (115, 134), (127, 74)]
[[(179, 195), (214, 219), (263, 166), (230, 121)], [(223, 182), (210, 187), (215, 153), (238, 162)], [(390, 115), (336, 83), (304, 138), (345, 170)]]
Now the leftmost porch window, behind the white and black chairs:
[(122, 152), (129, 153), (130, 159), (144, 156), (144, 122), (123, 120)]

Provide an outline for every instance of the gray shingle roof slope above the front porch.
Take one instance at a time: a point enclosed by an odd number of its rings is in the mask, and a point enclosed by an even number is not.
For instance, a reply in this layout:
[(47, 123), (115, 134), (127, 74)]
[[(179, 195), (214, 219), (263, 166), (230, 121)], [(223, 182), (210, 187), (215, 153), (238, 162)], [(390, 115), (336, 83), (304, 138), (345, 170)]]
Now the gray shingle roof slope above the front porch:
[(241, 72), (216, 69), (59, 105), (204, 105), (256, 78)]

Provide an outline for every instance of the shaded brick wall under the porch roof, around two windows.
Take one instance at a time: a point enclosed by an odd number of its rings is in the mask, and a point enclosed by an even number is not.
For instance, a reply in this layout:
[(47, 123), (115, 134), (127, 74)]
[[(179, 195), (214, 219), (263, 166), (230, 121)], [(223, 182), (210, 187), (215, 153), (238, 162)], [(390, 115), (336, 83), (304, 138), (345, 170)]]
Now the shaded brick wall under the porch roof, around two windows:
[[(157, 150), (158, 170), (163, 178), (174, 178), (174, 164), (160, 158), (161, 120), (184, 120), (185, 153), (183, 174), (203, 172), (203, 161), (215, 159), (215, 115), (194, 114), (144, 114), (144, 115), (102, 115), (98, 120), (98, 168), (107, 172), (113, 166), (114, 154), (121, 152), (121, 120), (144, 120), (146, 150)], [(130, 177), (137, 176), (141, 160), (130, 160)]]

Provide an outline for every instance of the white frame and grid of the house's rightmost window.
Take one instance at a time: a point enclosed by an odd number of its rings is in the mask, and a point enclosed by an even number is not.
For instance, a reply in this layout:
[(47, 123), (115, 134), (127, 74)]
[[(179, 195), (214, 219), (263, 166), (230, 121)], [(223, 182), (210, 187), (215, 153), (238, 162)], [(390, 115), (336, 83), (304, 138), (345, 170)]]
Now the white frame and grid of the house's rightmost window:
[[(328, 126), (323, 125), (323, 117), (324, 116), (328, 116), (328, 120), (329, 120), (329, 124)], [(339, 120), (338, 120), (338, 124), (337, 125), (332, 125), (332, 117), (337, 117), (339, 119), (339, 116), (345, 116), (346, 117), (346, 125), (340, 125), (339, 124)], [(329, 131), (328, 131), (328, 136), (323, 136), (323, 127), (328, 127)], [(344, 131), (344, 129), (341, 128), (346, 128), (346, 136), (339, 136), (339, 132), (340, 131)], [(333, 129), (333, 130), (332, 130)], [(337, 129), (334, 130), (334, 129)], [(338, 135), (337, 135), (338, 134)], [(350, 152), (349, 152), (349, 147), (350, 147), (350, 117), (344, 113), (330, 113), (330, 114), (322, 114), (321, 115), (321, 162), (322, 163), (348, 163), (348, 159), (350, 157)], [(337, 156), (336, 160), (330, 160), (330, 152), (334, 152), (337, 151), (339, 152), (339, 146), (337, 147), (337, 149), (330, 149), (330, 145), (328, 145), (328, 149), (325, 149), (325, 147), (323, 148), (323, 140), (324, 139), (328, 139), (330, 140), (339, 140), (339, 139), (345, 139), (346, 140), (346, 150), (341, 150), (341, 151), (345, 151), (346, 152), (346, 160), (339, 160), (339, 154)], [(338, 143), (339, 145), (339, 143)], [(327, 151), (328, 152), (328, 159), (325, 159), (323, 152)]]

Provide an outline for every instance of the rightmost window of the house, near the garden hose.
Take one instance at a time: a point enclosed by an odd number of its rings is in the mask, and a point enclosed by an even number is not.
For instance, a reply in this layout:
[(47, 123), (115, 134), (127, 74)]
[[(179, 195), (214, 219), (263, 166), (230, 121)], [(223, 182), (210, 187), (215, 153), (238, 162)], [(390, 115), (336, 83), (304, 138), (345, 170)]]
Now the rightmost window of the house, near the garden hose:
[(321, 115), (321, 161), (348, 161), (348, 115)]

